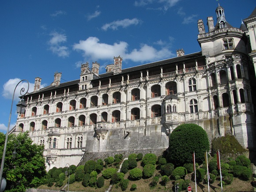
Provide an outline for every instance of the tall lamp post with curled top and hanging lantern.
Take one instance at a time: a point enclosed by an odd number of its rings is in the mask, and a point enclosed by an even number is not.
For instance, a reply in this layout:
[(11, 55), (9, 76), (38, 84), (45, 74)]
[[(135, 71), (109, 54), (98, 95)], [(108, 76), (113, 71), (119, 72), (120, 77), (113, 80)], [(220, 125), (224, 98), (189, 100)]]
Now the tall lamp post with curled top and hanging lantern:
[[(21, 88), (20, 90), (20, 95), (22, 96), (22, 99), (20, 102), (18, 102), (17, 104), (17, 113), (24, 113), (25, 109), (26, 109), (26, 103), (24, 102), (23, 96), (28, 92), (29, 90), (29, 82), (25, 79), (21, 80), (19, 83), (26, 81), (28, 84), (28, 88), (25, 92), (25, 88)], [(16, 85), (14, 91), (13, 91), (13, 95), (12, 95), (12, 102), (11, 102), (11, 111), (12, 111), (12, 104), (13, 104), (13, 98), (14, 98), (14, 94), (15, 94), (15, 90), (17, 88), (17, 86), (19, 85), (19, 83)], [(25, 93), (24, 93), (25, 92)], [(22, 94), (24, 93), (24, 94)], [(1, 162), (1, 168), (0, 168), (0, 188), (1, 188), (1, 184), (2, 184), (2, 179), (3, 179), (3, 171), (4, 171), (4, 160), (5, 160), (5, 153), (6, 153), (6, 147), (7, 147), (7, 142), (8, 142), (8, 134), (9, 134), (9, 128), (10, 128), (10, 123), (11, 123), (11, 111), (10, 111), (10, 116), (9, 116), (9, 121), (8, 121), (8, 127), (7, 127), (7, 132), (6, 132), (6, 137), (5, 137), (5, 143), (4, 143), (4, 152), (3, 152), (3, 158), (2, 158), (2, 162)], [(15, 151), (16, 152), (16, 151)]]

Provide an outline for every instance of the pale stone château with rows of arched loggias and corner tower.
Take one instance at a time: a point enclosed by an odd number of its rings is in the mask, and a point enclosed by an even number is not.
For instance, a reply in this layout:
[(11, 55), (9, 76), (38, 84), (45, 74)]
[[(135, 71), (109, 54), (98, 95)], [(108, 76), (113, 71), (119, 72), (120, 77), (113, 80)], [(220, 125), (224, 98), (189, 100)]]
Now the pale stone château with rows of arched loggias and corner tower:
[(198, 53), (178, 49), (175, 58), (126, 69), (117, 56), (104, 74), (99, 63), (86, 63), (79, 79), (60, 83), (56, 72), (41, 89), (37, 77), (12, 132), (29, 131), (45, 146), (47, 170), (117, 153), (161, 154), (173, 129), (187, 123), (203, 127), (210, 141), (232, 134), (253, 150), (255, 12), (240, 28), (227, 22), (220, 6), (216, 24), (207, 18), (208, 32), (198, 20)]

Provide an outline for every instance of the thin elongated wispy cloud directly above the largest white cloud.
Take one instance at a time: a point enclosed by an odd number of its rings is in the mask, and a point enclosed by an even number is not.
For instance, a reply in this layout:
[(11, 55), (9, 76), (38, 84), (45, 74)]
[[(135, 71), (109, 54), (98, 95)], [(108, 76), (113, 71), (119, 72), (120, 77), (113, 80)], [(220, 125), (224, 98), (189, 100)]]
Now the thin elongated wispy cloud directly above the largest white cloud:
[(141, 21), (137, 18), (134, 19), (123, 19), (123, 20), (117, 20), (117, 21), (113, 21), (111, 23), (106, 23), (105, 25), (102, 26), (103, 30), (108, 30), (108, 28), (113, 29), (113, 30), (117, 30), (117, 28), (119, 26), (125, 28), (128, 27), (130, 25), (137, 25), (141, 23)]

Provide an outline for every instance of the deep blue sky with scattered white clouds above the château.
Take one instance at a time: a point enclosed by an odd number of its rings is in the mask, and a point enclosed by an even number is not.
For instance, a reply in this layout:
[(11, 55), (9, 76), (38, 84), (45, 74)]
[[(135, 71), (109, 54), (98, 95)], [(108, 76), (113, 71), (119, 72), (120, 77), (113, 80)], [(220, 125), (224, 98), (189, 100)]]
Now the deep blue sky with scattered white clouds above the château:
[[(60, 83), (79, 79), (82, 63), (97, 61), (100, 74), (123, 58), (122, 68), (201, 51), (197, 20), (213, 16), (218, 3), (228, 23), (239, 28), (255, 0), (1, 0), (0, 2), (0, 132), (6, 133), (15, 86), (22, 79), (41, 88), (61, 72)], [(10, 129), (17, 120), (15, 91)]]

